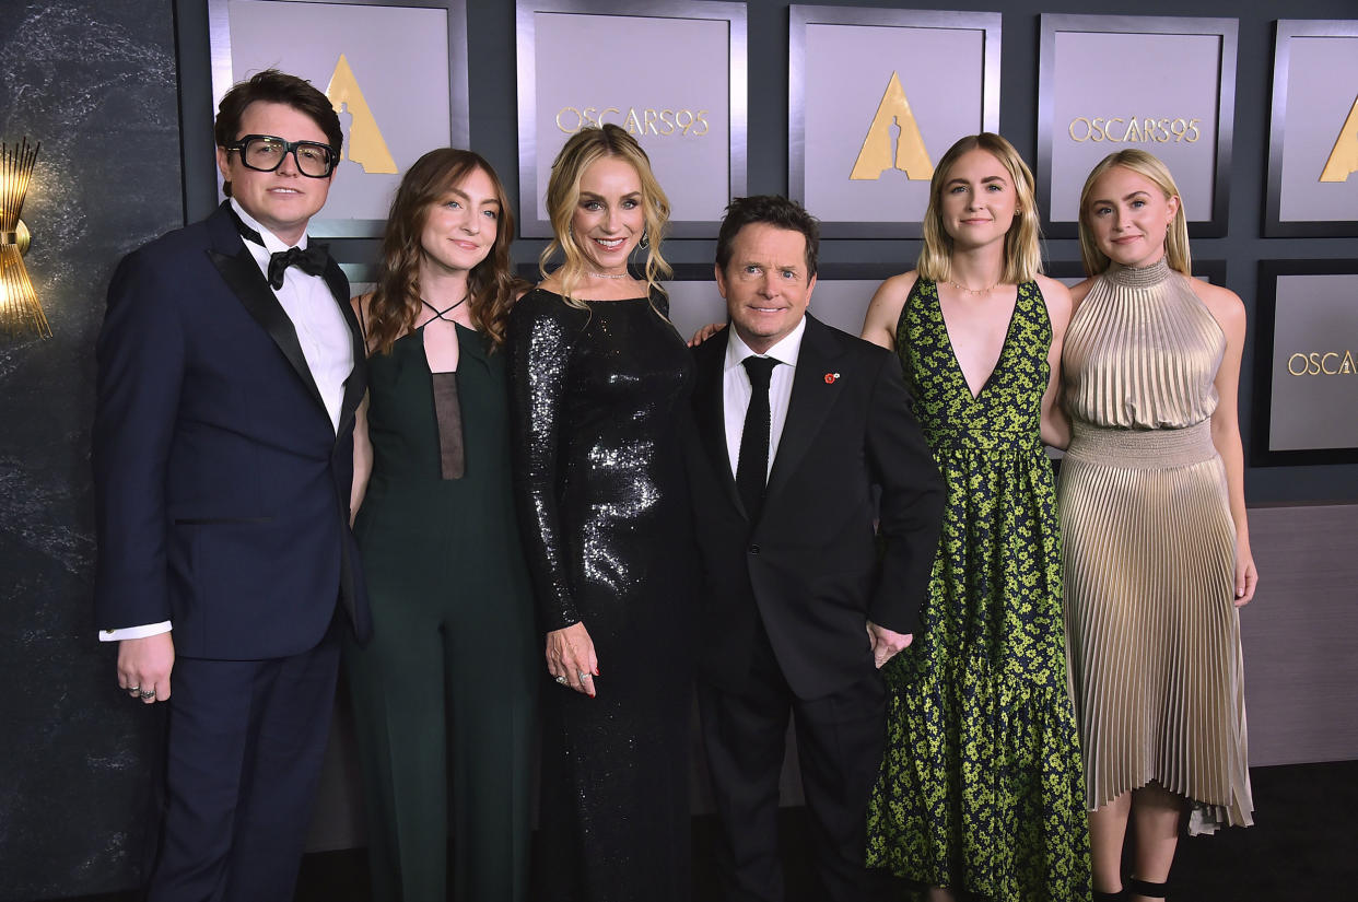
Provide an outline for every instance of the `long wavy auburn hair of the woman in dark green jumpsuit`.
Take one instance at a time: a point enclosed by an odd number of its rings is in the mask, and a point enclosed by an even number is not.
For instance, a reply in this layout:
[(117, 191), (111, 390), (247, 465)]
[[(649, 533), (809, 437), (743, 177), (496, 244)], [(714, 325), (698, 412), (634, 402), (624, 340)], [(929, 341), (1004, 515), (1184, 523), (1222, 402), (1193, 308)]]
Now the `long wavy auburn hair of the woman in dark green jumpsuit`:
[(406, 334), (420, 318), (421, 238), (429, 211), (473, 171), (490, 178), (500, 216), (496, 242), (486, 258), (467, 274), (467, 307), (471, 322), (490, 338), (492, 348), (505, 340), (505, 325), (515, 297), (527, 287), (511, 272), (509, 243), (513, 240), (513, 213), (500, 177), (479, 154), (443, 147), (429, 151), (411, 166), (387, 215), (378, 258), (378, 288), (368, 303), (368, 346), (388, 353), (392, 342)]

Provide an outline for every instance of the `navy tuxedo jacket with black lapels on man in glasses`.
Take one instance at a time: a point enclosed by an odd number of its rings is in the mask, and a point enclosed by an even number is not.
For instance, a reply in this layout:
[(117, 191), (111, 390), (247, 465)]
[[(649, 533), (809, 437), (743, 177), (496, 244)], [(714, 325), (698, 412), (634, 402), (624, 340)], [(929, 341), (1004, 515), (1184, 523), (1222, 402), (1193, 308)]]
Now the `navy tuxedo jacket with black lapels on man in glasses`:
[(367, 637), (349, 531), (364, 344), (334, 261), (325, 280), (353, 341), (338, 433), (227, 204), (118, 265), (94, 422), (99, 629), (168, 619), (178, 655), (285, 657), (340, 603)]

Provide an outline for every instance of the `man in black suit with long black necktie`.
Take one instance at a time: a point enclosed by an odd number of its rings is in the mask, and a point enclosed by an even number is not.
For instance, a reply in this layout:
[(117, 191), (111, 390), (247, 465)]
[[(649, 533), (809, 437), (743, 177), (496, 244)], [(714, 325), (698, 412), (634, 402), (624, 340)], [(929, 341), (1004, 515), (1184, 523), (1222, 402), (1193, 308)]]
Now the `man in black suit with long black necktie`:
[(698, 704), (729, 901), (782, 899), (789, 713), (826, 898), (870, 895), (864, 819), (885, 738), (877, 668), (919, 622), (942, 513), (900, 364), (807, 315), (818, 245), (799, 204), (732, 201), (716, 268), (731, 329), (695, 350)]

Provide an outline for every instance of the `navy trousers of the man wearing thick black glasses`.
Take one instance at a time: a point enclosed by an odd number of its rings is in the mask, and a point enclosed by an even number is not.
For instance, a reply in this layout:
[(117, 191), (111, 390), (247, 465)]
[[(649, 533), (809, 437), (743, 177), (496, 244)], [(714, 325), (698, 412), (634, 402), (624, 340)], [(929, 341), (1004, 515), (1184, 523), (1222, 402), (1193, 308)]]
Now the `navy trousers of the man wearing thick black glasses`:
[(270, 660), (178, 657), (149, 902), (288, 902), (340, 672), (338, 626)]

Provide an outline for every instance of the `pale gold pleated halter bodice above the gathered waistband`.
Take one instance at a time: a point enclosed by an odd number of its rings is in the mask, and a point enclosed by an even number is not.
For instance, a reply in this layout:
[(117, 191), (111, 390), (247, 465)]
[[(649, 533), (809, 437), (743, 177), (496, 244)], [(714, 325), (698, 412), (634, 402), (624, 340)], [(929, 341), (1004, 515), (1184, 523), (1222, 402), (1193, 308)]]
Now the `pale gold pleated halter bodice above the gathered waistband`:
[(1070, 321), (1063, 352), (1071, 420), (1115, 429), (1183, 429), (1217, 409), (1226, 336), (1187, 276), (1160, 262), (1114, 264)]

